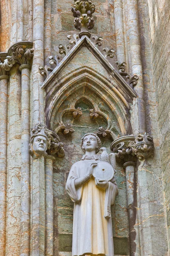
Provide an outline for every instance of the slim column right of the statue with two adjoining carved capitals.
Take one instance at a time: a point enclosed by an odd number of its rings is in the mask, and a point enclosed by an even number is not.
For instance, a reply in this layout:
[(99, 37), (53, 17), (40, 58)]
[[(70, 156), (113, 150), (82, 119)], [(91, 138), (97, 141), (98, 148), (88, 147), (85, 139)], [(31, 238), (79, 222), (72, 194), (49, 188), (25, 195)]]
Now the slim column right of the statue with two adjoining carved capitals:
[[(143, 256), (142, 247), (142, 219), (139, 218), (140, 198), (137, 197), (137, 190), (142, 190), (142, 179), (138, 180), (138, 159), (141, 161), (140, 172), (146, 172), (148, 167), (147, 159), (153, 155), (154, 146), (153, 138), (144, 133), (136, 136), (128, 135), (119, 137), (111, 144), (111, 150), (116, 154), (116, 160), (122, 163), (126, 175), (127, 187), (127, 209), (129, 218), (129, 239), (130, 239), (130, 255)], [(145, 195), (147, 196), (147, 191)], [(140, 223), (141, 222), (141, 223)], [(146, 249), (146, 247), (145, 247)]]

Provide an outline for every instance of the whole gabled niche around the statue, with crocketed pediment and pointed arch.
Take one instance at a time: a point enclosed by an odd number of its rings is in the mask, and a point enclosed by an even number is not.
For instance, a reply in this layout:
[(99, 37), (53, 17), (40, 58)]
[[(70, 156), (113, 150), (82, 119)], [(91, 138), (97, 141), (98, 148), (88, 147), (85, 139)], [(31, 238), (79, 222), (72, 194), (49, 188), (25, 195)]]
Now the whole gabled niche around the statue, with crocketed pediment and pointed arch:
[[(119, 73), (121, 65), (115, 70), (107, 60), (115, 51), (104, 48), (103, 54), (98, 49), (102, 38), (92, 36), (93, 42), (89, 33), (81, 30), (80, 34), (68, 35), (71, 47), (59, 45), (59, 54), (65, 55), (60, 62), (58, 55), (49, 57), (54, 69), (40, 67), (46, 77), (42, 84), (46, 125), (60, 137), (65, 150), (65, 156), (53, 164), (54, 256), (72, 255), (74, 203), (65, 185), (71, 166), (84, 154), (81, 138), (89, 132), (96, 134), (102, 146), (97, 154), (110, 154), (114, 140), (132, 134), (130, 109), (136, 93)], [(126, 176), (119, 163), (114, 177), (119, 190), (111, 207), (114, 254), (129, 255)]]

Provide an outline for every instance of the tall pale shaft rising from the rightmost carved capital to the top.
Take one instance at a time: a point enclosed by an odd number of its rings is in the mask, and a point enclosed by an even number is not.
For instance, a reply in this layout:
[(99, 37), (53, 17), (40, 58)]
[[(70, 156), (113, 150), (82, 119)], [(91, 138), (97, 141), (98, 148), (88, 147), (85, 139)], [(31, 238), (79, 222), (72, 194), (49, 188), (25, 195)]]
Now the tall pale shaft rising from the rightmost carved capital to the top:
[(139, 77), (137, 85), (134, 87), (138, 98), (134, 103), (133, 112), (134, 120), (133, 132), (134, 134), (143, 133), (146, 131), (145, 118), (145, 104), (144, 104), (144, 85), (142, 76), (142, 60), (141, 60), (141, 46), (139, 34), (138, 21), (138, 3), (137, 0), (126, 0), (126, 37), (129, 39), (130, 48), (130, 70), (132, 75)]

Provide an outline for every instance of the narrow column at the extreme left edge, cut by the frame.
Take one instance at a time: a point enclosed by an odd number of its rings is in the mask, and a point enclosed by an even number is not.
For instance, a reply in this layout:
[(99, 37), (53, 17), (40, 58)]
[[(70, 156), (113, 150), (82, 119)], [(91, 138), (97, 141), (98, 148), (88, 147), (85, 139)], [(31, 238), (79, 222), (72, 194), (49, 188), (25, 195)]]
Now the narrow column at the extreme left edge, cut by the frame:
[[(0, 53), (2, 60), (3, 53)], [(5, 56), (6, 57), (6, 56)], [(6, 173), (7, 173), (7, 110), (8, 72), (0, 68), (0, 255), (6, 247)]]

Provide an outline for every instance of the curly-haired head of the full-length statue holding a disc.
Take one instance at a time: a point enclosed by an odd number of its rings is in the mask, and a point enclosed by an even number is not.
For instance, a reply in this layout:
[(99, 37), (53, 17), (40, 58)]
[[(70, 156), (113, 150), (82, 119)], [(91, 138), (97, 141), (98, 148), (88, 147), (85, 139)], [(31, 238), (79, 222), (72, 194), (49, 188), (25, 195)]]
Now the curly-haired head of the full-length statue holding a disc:
[(85, 153), (86, 151), (96, 150), (96, 153), (99, 152), (99, 148), (101, 147), (101, 140), (94, 133), (85, 134), (81, 140), (81, 148)]

